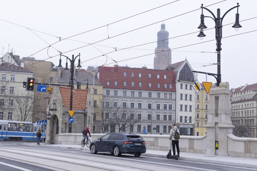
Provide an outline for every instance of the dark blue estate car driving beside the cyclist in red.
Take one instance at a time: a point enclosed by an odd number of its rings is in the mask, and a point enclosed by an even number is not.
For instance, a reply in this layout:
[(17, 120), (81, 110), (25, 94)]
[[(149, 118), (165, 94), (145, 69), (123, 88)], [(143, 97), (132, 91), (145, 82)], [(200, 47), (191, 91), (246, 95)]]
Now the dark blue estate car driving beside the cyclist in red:
[(146, 145), (143, 138), (134, 133), (107, 133), (91, 142), (90, 151), (92, 154), (109, 152), (120, 156), (122, 153), (128, 153), (139, 157), (141, 153), (146, 152)]

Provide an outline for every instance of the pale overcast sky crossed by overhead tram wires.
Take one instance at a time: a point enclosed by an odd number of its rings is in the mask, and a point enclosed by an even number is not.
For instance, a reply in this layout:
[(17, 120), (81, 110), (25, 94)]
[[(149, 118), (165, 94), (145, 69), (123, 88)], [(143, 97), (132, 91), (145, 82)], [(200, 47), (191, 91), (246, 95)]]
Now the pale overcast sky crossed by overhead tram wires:
[[(257, 83), (256, 0), (1, 1), (0, 55), (13, 52), (58, 66), (60, 52), (70, 59), (80, 53), (83, 69), (115, 64), (153, 68), (157, 33), (164, 23), (172, 64), (187, 59), (194, 71), (217, 74), (213, 19), (204, 18), (206, 37), (197, 37), (200, 6), (215, 17), (219, 8), (222, 17), (237, 2), (242, 27), (232, 28), (237, 8), (232, 9), (224, 16), (221, 40), (221, 79), (237, 88)], [(203, 14), (212, 16), (205, 9)], [(65, 66), (65, 57), (61, 59)], [(216, 82), (210, 75), (196, 76), (199, 82)]]

